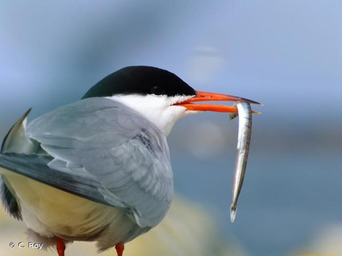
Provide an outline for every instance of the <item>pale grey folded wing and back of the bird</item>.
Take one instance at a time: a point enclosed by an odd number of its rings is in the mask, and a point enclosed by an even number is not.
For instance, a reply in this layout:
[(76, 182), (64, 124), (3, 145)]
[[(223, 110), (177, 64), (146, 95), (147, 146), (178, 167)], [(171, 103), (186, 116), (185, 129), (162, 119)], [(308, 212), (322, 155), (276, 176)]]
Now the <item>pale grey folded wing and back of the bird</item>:
[(166, 215), (173, 177), (165, 136), (126, 106), (89, 98), (62, 106), (28, 124), (26, 136), (53, 158), (60, 173), (98, 183), (108, 204), (141, 227)]

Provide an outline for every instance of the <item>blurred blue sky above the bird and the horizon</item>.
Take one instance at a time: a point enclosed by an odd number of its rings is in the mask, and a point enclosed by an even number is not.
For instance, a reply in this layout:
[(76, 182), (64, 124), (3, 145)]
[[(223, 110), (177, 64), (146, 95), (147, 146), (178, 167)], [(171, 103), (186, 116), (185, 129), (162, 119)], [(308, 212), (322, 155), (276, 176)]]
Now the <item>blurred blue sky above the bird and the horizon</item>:
[(112, 2), (2, 2), (5, 92), (48, 106), (121, 67), (151, 65), (259, 100), (272, 117), (342, 113), (341, 1)]

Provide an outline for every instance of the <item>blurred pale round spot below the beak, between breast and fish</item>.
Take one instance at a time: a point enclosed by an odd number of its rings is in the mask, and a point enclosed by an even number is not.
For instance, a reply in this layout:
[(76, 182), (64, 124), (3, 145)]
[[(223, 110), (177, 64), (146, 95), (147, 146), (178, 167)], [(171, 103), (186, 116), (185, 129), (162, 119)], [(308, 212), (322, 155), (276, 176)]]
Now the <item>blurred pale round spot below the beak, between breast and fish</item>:
[(224, 150), (226, 136), (219, 126), (204, 122), (193, 127), (186, 143), (192, 155), (197, 158), (210, 158)]

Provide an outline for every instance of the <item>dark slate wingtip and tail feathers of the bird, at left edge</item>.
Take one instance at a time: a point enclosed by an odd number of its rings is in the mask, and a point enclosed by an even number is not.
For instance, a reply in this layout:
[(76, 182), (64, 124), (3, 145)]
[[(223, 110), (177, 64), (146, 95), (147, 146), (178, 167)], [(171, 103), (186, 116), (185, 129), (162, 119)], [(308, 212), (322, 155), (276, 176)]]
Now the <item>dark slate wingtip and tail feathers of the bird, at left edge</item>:
[[(38, 142), (30, 141), (25, 136), (29, 113), (30, 109), (18, 119), (5, 136), (1, 146), (0, 169), (7, 169), (74, 195), (110, 205), (99, 193), (100, 184), (98, 182), (86, 177), (56, 172), (55, 169), (48, 166), (53, 158), (42, 150)], [(6, 211), (15, 219), (22, 220), (15, 191), (6, 176), (2, 175), (0, 175), (0, 197)]]

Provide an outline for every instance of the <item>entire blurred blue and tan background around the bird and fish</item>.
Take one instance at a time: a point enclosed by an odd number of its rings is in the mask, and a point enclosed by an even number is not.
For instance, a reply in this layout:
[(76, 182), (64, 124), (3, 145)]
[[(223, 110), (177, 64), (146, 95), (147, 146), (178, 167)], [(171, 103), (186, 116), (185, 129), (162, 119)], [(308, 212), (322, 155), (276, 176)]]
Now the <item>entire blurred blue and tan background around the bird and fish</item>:
[[(191, 116), (168, 137), (180, 199), (126, 255), (342, 255), (341, 13), (340, 0), (1, 1), (0, 137), (132, 65), (263, 102), (234, 224), (238, 121)], [(0, 252), (35, 255), (8, 248), (24, 224), (1, 212)]]

